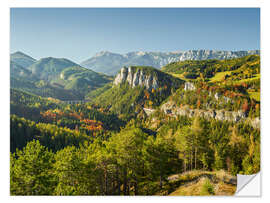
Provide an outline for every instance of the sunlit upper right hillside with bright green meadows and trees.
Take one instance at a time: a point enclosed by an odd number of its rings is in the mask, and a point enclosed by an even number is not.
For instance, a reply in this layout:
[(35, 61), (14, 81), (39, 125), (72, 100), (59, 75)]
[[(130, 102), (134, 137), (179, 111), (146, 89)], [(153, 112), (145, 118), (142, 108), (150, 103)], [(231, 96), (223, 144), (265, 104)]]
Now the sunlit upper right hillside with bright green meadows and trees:
[[(162, 70), (167, 73), (177, 74), (186, 79), (210, 79), (217, 82), (221, 79), (237, 80), (255, 79), (260, 74), (260, 57), (250, 55), (229, 60), (188, 60), (170, 63)], [(215, 77), (214, 77), (215, 76)], [(222, 77), (223, 76), (223, 77)]]

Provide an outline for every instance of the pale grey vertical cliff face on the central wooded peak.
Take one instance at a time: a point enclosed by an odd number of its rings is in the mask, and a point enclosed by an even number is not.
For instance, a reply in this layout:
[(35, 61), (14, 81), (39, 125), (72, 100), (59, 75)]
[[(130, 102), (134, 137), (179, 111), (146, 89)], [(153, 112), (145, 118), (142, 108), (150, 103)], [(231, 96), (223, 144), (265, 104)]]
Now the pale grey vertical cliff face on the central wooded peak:
[(113, 82), (114, 85), (127, 82), (130, 86), (145, 86), (146, 89), (157, 89), (159, 88), (158, 78), (152, 74), (147, 74), (143, 69), (126, 68), (123, 67), (115, 77)]

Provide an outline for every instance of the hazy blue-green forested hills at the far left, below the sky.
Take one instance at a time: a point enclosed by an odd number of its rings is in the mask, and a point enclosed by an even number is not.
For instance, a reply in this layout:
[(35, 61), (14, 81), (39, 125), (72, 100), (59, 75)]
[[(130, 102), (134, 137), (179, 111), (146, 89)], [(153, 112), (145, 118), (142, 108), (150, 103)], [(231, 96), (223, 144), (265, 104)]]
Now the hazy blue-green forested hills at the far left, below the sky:
[(92, 90), (112, 80), (68, 59), (48, 57), (36, 61), (21, 52), (11, 55), (10, 75), (12, 88), (60, 100), (85, 100)]

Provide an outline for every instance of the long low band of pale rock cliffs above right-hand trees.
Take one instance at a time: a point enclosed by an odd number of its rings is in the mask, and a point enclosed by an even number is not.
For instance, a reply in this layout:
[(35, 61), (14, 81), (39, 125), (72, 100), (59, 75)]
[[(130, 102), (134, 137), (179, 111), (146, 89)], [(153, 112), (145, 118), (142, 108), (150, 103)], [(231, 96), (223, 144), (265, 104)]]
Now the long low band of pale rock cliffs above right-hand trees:
[(225, 110), (202, 110), (190, 109), (188, 106), (177, 107), (174, 102), (169, 101), (161, 106), (161, 111), (170, 116), (199, 116), (205, 119), (216, 119), (220, 121), (242, 122), (247, 121), (254, 128), (260, 128), (260, 119), (247, 118), (243, 111), (225, 111)]

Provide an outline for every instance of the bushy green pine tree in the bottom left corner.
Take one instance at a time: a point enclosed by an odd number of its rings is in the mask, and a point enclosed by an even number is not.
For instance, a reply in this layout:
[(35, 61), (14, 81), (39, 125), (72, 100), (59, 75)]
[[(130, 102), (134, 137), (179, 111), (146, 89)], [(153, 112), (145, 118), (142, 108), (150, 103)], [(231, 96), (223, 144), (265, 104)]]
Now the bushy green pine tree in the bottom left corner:
[(12, 195), (51, 195), (56, 186), (53, 175), (54, 154), (29, 142), (11, 155), (10, 191)]

